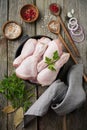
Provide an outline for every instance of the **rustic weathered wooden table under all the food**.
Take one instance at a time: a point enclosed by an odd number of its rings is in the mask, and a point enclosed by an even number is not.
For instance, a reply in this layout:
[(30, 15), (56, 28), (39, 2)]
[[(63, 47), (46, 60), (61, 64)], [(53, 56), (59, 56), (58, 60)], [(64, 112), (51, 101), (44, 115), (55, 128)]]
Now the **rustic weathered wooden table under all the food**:
[[(47, 29), (48, 21), (56, 19), (49, 12), (49, 4), (57, 2), (61, 5), (61, 16), (65, 21), (65, 15), (71, 9), (75, 10), (75, 17), (77, 17), (84, 27), (85, 40), (81, 44), (76, 44), (81, 60), (84, 64), (84, 70), (87, 74), (87, 0), (0, 0), (0, 79), (5, 74), (10, 75), (14, 68), (12, 62), (15, 56), (16, 49), (20, 45), (17, 40), (6, 40), (2, 35), (2, 25), (7, 20), (17, 21), (23, 27), (23, 34), (33, 35), (47, 35), (52, 38), (57, 36), (50, 33)], [(40, 11), (40, 17), (36, 23), (28, 24), (21, 20), (19, 11), (20, 8), (27, 4), (32, 3), (37, 5)], [(66, 39), (65, 34), (63, 36)], [(68, 41), (67, 41), (68, 43)], [(69, 44), (70, 45), (70, 44)], [(87, 84), (85, 83), (85, 91)], [(41, 95), (45, 88), (38, 87), (38, 93), (35, 89), (36, 98)], [(37, 95), (38, 94), (38, 95)], [(13, 125), (13, 114), (5, 115), (1, 109), (7, 104), (7, 101), (0, 95), (0, 130), (15, 130)], [(17, 130), (22, 130), (20, 125)], [(87, 102), (82, 108), (74, 111), (73, 113), (60, 117), (53, 111), (49, 111), (45, 116), (33, 120), (26, 130), (87, 130)]]

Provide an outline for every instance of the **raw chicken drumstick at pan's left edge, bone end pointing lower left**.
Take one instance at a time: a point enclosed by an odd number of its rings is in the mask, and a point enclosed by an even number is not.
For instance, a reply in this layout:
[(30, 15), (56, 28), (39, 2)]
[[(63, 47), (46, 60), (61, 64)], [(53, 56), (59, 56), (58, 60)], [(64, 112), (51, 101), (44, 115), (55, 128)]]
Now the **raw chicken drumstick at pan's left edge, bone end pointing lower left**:
[(23, 49), (21, 51), (21, 55), (14, 60), (13, 66), (18, 67), (26, 57), (32, 55), (35, 50), (36, 44), (37, 41), (35, 39), (29, 39), (24, 44)]

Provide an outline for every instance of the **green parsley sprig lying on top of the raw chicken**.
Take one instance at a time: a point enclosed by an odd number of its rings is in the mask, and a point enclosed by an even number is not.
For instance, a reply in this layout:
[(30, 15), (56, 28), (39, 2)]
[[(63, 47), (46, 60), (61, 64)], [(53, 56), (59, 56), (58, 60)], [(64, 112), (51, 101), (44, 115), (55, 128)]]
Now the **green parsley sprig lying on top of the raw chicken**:
[(47, 63), (47, 65), (48, 65), (48, 69), (50, 69), (50, 70), (52, 70), (52, 71), (56, 71), (56, 69), (55, 69), (55, 62), (57, 61), (57, 60), (59, 60), (59, 55), (58, 55), (58, 51), (55, 51), (54, 53), (53, 53), (53, 57), (52, 57), (52, 59), (50, 59), (49, 57), (45, 57), (45, 63)]

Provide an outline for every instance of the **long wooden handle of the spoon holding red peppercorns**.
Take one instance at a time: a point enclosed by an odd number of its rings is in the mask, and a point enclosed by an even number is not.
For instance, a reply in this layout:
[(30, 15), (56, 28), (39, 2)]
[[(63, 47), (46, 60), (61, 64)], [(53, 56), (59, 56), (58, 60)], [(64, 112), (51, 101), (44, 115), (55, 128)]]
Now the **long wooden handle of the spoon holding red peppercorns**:
[(61, 26), (62, 26), (62, 28), (63, 28), (66, 36), (67, 36), (67, 38), (69, 39), (69, 41), (70, 41), (70, 43), (71, 43), (71, 45), (72, 45), (76, 55), (79, 56), (79, 51), (78, 51), (76, 45), (74, 44), (73, 39), (71, 38), (69, 32), (67, 31), (67, 28), (66, 28), (65, 24), (63, 23), (63, 21), (62, 21), (60, 16), (58, 16), (58, 20), (59, 20), (59, 22), (60, 22), (60, 24), (61, 24)]

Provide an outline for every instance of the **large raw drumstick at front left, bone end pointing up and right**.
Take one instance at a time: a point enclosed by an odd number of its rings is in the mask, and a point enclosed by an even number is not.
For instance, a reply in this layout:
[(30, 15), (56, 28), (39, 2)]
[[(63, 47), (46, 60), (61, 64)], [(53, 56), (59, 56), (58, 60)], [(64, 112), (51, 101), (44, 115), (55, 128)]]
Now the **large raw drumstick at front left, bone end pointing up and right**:
[(37, 76), (37, 63), (45, 52), (47, 44), (38, 42), (32, 56), (27, 57), (16, 69), (16, 75), (22, 79), (34, 79)]

